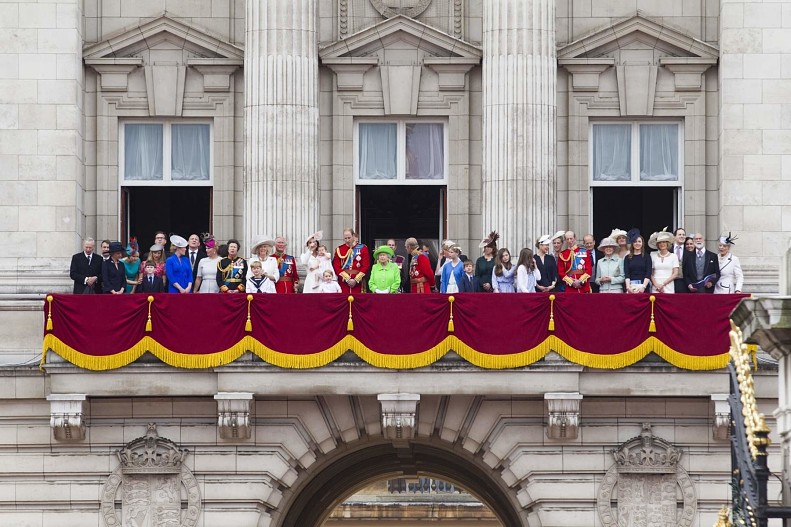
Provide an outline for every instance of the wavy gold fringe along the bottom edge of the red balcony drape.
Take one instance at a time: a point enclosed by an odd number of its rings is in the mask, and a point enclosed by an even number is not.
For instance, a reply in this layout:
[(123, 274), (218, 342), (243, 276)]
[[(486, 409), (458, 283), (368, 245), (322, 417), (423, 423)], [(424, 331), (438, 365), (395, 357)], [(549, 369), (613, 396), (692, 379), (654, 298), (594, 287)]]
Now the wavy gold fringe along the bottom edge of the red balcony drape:
[(572, 348), (555, 335), (548, 336), (534, 348), (509, 355), (481, 353), (459, 340), (455, 335), (447, 336), (442, 342), (426, 351), (411, 355), (378, 353), (352, 335), (346, 335), (335, 345), (318, 353), (296, 355), (273, 350), (247, 335), (230, 348), (216, 353), (200, 355), (176, 353), (162, 346), (151, 337), (145, 336), (131, 348), (114, 355), (92, 356), (75, 350), (55, 335), (48, 333), (44, 336), (43, 353), (39, 365), (42, 370), (46, 364), (49, 350), (57, 353), (75, 366), (93, 371), (121, 368), (136, 361), (146, 352), (156, 356), (169, 366), (185, 369), (214, 368), (229, 364), (247, 351), (254, 353), (269, 364), (289, 369), (326, 366), (340, 358), (347, 350), (351, 350), (371, 366), (388, 369), (422, 368), (438, 361), (449, 351), (455, 351), (470, 364), (485, 369), (520, 368), (542, 359), (550, 351), (556, 351), (575, 364), (599, 369), (618, 369), (630, 366), (651, 352), (656, 353), (673, 366), (687, 370), (716, 370), (724, 368), (729, 360), (727, 352), (710, 357), (684, 355), (669, 348), (656, 337), (649, 337), (640, 345), (623, 353), (599, 355)]

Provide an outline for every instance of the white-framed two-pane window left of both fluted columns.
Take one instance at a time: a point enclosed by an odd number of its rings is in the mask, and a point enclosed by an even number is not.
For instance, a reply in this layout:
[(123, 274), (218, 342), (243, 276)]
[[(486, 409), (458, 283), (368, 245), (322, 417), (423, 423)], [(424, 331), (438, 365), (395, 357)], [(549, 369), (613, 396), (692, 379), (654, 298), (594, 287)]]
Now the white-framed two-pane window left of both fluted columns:
[(209, 123), (123, 122), (118, 140), (118, 166), (125, 186), (211, 184)]

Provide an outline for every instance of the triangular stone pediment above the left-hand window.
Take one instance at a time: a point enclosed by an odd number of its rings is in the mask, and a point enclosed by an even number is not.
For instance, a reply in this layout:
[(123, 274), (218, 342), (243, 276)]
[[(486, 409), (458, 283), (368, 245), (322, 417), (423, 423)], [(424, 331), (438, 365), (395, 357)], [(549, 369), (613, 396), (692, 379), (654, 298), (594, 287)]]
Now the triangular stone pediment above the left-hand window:
[(83, 50), (86, 61), (134, 57), (145, 50), (178, 48), (196, 58), (221, 59), (241, 64), (244, 50), (213, 36), (210, 31), (188, 26), (166, 15), (125, 28)]

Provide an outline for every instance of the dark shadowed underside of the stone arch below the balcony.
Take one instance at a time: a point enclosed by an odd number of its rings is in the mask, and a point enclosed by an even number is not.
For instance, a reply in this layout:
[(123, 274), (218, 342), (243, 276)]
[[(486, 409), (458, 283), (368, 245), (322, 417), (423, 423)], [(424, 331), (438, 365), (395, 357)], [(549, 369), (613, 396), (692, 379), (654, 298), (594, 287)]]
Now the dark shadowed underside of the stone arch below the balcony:
[(328, 464), (300, 489), (280, 527), (320, 527), (361, 483), (383, 476), (433, 474), (460, 485), (488, 506), (503, 525), (524, 525), (505, 489), (485, 469), (459, 454), (429, 444), (405, 448), (382, 444), (351, 452)]

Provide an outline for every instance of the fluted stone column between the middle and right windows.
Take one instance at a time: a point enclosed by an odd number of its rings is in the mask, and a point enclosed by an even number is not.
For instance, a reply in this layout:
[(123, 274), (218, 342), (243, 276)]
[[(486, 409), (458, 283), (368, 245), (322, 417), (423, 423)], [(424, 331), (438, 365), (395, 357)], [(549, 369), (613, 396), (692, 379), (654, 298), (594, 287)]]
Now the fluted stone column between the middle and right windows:
[(559, 227), (555, 1), (483, 6), (482, 222), (515, 253)]

